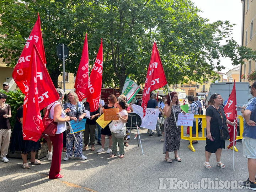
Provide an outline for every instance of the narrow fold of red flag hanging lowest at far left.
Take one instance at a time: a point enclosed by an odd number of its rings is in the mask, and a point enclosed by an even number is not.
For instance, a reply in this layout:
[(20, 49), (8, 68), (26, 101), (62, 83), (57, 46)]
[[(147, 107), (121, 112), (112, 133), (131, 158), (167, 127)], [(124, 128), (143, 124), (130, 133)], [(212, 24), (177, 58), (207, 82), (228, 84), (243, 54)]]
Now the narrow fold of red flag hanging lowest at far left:
[(28, 74), (30, 74), (29, 89), (24, 97), (23, 105), (23, 139), (37, 142), (43, 133), (44, 127), (39, 109), (37, 65), (42, 65), (37, 57), (36, 49), (33, 47)]

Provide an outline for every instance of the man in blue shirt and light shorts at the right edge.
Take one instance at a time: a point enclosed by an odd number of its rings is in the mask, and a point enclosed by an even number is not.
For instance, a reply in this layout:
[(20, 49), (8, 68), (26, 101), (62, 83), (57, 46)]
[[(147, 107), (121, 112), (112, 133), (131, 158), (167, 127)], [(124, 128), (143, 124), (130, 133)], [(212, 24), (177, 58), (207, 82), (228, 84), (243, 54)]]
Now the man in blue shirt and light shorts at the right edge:
[(256, 190), (256, 81), (249, 88), (254, 98), (248, 102), (244, 111), (245, 122), (242, 139), (244, 156), (248, 159), (249, 178), (247, 181), (238, 182), (238, 185)]

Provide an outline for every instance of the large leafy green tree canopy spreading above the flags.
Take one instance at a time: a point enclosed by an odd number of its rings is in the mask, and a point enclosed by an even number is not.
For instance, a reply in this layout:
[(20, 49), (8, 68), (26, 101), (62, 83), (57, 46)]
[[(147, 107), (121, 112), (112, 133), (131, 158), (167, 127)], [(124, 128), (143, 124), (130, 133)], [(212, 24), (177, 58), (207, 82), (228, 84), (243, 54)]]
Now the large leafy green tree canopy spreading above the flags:
[(209, 23), (190, 0), (2, 0), (0, 57), (15, 65), (25, 39), (40, 10), (47, 69), (57, 86), (62, 64), (55, 54), (58, 43), (70, 52), (65, 69), (76, 74), (85, 32), (88, 33), (90, 64), (103, 38), (103, 84), (119, 84), (126, 76), (145, 82), (153, 42), (156, 41), (167, 82), (210, 79), (224, 68), (220, 57), (234, 65), (256, 60), (256, 52), (239, 46), (231, 38), (234, 25), (228, 21)]

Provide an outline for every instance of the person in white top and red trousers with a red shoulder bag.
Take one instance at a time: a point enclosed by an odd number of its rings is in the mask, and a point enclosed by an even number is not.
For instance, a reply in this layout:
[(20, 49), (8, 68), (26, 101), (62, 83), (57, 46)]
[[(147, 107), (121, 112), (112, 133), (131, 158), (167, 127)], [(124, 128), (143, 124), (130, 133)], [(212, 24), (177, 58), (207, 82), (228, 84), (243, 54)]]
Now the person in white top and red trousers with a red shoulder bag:
[[(60, 96), (60, 100), (63, 100), (64, 91), (57, 88), (56, 91)], [(51, 109), (50, 109), (51, 108)], [(61, 104), (58, 101), (55, 101), (48, 105), (47, 110), (50, 109), (49, 118), (53, 119), (54, 122), (57, 122), (57, 131), (54, 136), (50, 136), (50, 140), (53, 145), (53, 157), (52, 165), (50, 167), (49, 179), (62, 178), (63, 175), (60, 175), (60, 161), (63, 147), (63, 132), (66, 130), (66, 121), (69, 121), (69, 117), (66, 116), (65, 111), (63, 111)], [(67, 109), (69, 110), (69, 109)]]

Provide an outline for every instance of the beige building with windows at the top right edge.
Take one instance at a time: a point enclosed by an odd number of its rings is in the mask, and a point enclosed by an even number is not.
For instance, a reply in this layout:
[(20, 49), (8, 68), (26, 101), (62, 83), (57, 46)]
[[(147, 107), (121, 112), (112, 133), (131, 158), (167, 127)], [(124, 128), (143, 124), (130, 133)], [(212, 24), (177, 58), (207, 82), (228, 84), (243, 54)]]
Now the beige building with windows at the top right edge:
[[(242, 5), (241, 45), (256, 50), (256, 0), (242, 1)], [(249, 82), (247, 77), (250, 76), (255, 69), (256, 62), (254, 60), (245, 60), (245, 64), (240, 65), (240, 81)]]

